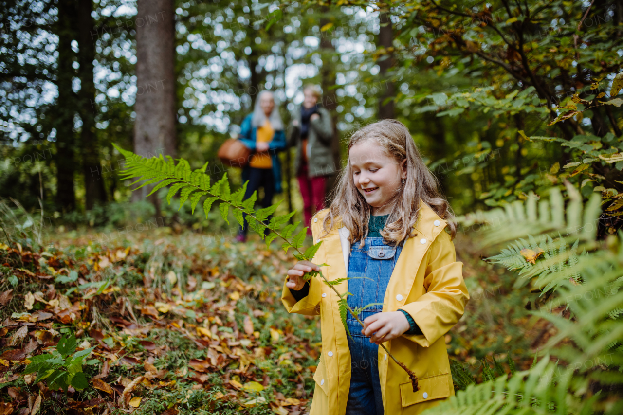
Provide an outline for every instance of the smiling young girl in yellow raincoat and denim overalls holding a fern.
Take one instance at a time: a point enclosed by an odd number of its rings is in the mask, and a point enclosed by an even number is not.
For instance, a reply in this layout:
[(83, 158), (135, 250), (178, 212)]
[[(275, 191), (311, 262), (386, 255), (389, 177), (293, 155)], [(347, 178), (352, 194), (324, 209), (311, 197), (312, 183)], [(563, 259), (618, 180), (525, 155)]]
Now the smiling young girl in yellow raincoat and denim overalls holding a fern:
[[(323, 244), (313, 261), (288, 270), (283, 285), (288, 312), (321, 316), (310, 415), (419, 414), (454, 395), (444, 335), (469, 295), (451, 219), (406, 126), (383, 120), (351, 136), (335, 199), (312, 220), (314, 242)], [(336, 293), (320, 277), (303, 280), (312, 270), (353, 278), (336, 285), (352, 293), (352, 309), (379, 303), (359, 315), (364, 327), (348, 315), (352, 338)], [(417, 374), (417, 392), (380, 343)]]

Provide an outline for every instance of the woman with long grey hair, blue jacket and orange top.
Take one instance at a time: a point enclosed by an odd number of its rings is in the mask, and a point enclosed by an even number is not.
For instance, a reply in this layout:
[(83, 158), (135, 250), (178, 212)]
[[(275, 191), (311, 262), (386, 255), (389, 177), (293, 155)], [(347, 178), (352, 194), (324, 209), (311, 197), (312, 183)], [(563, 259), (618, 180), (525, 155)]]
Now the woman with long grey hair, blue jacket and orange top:
[[(251, 150), (249, 164), (242, 169), (242, 182), (249, 181), (244, 199), (254, 191), (264, 188), (262, 207), (269, 207), (275, 193), (281, 193), (281, 165), (277, 151), (285, 148), (283, 122), (275, 108), (275, 97), (270, 91), (262, 91), (255, 101), (254, 112), (240, 126), (239, 140)], [(236, 241), (247, 240), (249, 225), (239, 228)]]

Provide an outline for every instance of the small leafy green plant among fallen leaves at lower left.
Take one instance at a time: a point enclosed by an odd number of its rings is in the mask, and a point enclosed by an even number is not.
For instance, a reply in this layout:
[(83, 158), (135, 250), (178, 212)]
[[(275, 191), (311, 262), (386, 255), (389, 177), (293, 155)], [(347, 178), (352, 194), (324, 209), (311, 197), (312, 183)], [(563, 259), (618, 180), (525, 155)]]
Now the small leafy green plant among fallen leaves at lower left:
[(95, 347), (85, 350), (76, 350), (76, 338), (72, 333), (70, 336), (62, 336), (55, 349), (49, 353), (33, 356), (24, 369), (24, 374), (37, 373), (34, 383), (47, 379), (48, 388), (53, 391), (64, 389), (67, 391), (69, 386), (74, 389), (82, 390), (87, 388), (88, 381), (82, 372), (82, 361), (91, 353)]

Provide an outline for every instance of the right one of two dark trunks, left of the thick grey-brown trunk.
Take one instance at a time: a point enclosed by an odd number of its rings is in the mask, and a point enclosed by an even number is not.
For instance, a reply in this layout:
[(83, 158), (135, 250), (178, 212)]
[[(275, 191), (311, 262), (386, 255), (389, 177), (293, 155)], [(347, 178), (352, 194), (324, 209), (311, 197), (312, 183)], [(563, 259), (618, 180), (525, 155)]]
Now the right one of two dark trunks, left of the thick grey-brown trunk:
[(95, 60), (95, 39), (97, 31), (91, 12), (93, 11), (92, 0), (78, 1), (78, 63), (80, 64), (80, 92), (78, 100), (80, 105), (80, 118), (82, 118), (82, 173), (84, 174), (85, 207), (93, 209), (96, 202), (106, 202), (106, 191), (102, 178), (100, 165), (100, 151), (95, 135), (95, 83), (93, 82), (93, 60)]

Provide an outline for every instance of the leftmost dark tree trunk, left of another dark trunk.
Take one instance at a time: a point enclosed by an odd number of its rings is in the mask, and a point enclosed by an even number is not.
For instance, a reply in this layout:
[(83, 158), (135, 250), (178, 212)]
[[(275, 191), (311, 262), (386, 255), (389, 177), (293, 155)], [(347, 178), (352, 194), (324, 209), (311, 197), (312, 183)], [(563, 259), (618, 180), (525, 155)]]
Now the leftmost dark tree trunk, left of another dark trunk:
[(56, 24), (56, 34), (59, 36), (58, 66), (56, 85), (59, 88), (57, 98), (54, 128), (56, 129), (56, 198), (57, 208), (68, 212), (75, 209), (76, 198), (74, 191), (74, 114), (76, 110), (74, 91), (72, 90), (72, 78), (75, 71), (74, 51), (72, 40), (74, 31), (72, 21), (75, 19), (74, 2), (71, 0), (59, 0), (59, 20)]

